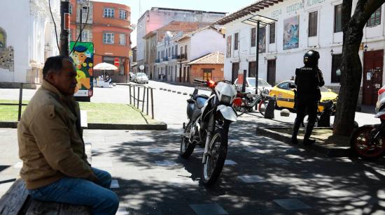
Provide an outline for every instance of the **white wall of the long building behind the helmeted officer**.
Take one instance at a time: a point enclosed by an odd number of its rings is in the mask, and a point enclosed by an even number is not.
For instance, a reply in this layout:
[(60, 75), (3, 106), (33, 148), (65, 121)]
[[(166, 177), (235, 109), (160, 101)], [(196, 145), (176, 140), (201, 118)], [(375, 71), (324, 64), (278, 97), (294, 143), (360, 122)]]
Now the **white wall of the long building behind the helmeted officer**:
[[(276, 20), (276, 36), (275, 43), (269, 44), (269, 27), (266, 30), (266, 53), (259, 54), (259, 76), (267, 78), (267, 59), (276, 58), (276, 82), (281, 80), (288, 80), (295, 73), (295, 68), (303, 66), (302, 57), (307, 50), (317, 50), (320, 52), (321, 59), (319, 67), (323, 71), (325, 78), (325, 84), (338, 86), (338, 83), (331, 83), (331, 68), (332, 68), (332, 56), (330, 50), (333, 50), (334, 54), (340, 54), (342, 52), (342, 32), (334, 33), (334, 7), (335, 5), (342, 3), (342, 0), (330, 1), (330, 0), (318, 0), (309, 1), (304, 0), (304, 6), (295, 8), (296, 3), (302, 1), (288, 0), (274, 4), (269, 8), (260, 10), (258, 15), (266, 17), (272, 17)], [(356, 1), (353, 3), (355, 7)], [(385, 6), (381, 6), (381, 24), (377, 27), (366, 27), (364, 29), (363, 43), (367, 43), (370, 47), (368, 50), (382, 50), (384, 49), (385, 41), (385, 29), (384, 29), (384, 17)], [(309, 13), (318, 11), (318, 31), (317, 36), (308, 37), (308, 17)], [(283, 50), (283, 21), (289, 17), (300, 16), (300, 40), (299, 47)], [(231, 80), (232, 77), (232, 62), (239, 62), (239, 69), (243, 71), (248, 70), (248, 61), (255, 61), (255, 47), (251, 47), (251, 26), (241, 23), (242, 20), (246, 20), (249, 16), (235, 20), (225, 24), (226, 38), (232, 36), (232, 54), (230, 58), (225, 57), (225, 79)], [(239, 33), (239, 50), (234, 50), (234, 34)], [(376, 40), (378, 40), (376, 42)], [(360, 57), (362, 59), (363, 51), (360, 51)], [(385, 75), (385, 73), (384, 73)], [(383, 78), (385, 81), (385, 78)]]

